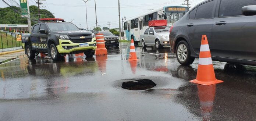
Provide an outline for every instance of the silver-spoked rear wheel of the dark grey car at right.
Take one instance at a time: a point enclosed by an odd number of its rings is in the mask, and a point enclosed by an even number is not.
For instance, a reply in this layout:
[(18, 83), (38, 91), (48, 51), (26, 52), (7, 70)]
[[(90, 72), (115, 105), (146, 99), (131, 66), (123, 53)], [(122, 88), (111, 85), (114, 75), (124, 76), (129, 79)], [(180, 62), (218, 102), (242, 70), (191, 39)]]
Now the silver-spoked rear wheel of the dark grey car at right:
[(180, 41), (176, 47), (176, 57), (181, 65), (190, 65), (195, 60), (194, 57), (191, 57), (188, 43), (184, 40)]

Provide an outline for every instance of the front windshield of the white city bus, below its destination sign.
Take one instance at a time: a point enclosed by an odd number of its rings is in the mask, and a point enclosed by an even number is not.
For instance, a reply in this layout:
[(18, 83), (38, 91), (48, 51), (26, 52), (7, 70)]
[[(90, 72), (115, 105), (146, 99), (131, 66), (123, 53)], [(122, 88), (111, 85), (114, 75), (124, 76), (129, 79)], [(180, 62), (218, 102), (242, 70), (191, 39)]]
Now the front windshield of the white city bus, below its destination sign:
[(183, 17), (184, 15), (185, 15), (185, 12), (182, 12), (182, 13), (173, 13), (173, 12), (166, 13), (168, 26), (172, 26), (174, 22), (181, 19), (181, 17)]

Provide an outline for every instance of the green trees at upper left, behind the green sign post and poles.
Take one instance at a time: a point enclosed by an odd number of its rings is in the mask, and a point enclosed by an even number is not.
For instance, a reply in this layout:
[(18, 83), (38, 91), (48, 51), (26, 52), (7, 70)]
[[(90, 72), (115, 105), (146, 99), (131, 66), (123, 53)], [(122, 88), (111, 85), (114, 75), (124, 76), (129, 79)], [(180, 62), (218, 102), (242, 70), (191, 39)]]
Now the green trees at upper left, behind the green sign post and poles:
[[(21, 11), (19, 7), (12, 6), (6, 8), (0, 8), (0, 24), (28, 24), (27, 18), (22, 18), (21, 14), (16, 13), (12, 8), (17, 11)], [(38, 23), (36, 19), (38, 17), (38, 7), (29, 6), (30, 16), (31, 16), (31, 25)], [(45, 9), (40, 9), (41, 18), (55, 18), (50, 11)]]

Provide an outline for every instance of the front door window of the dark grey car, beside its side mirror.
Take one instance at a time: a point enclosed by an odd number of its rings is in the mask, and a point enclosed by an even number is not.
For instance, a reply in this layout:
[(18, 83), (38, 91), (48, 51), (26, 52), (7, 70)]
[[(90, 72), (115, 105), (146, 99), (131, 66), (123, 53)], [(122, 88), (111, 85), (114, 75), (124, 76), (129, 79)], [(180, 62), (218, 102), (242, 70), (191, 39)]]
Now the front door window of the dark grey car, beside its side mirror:
[(242, 15), (242, 7), (256, 5), (256, 0), (221, 0), (219, 17)]

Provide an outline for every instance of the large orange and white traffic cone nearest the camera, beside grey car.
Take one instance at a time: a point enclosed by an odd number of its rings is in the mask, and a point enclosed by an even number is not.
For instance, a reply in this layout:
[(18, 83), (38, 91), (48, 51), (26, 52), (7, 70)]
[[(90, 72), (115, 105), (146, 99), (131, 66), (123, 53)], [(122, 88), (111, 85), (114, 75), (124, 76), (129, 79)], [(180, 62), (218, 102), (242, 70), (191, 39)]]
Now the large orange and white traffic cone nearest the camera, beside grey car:
[(200, 85), (213, 85), (222, 83), (223, 81), (217, 80), (211, 60), (210, 48), (206, 35), (202, 36), (202, 43), (199, 54), (199, 64), (196, 79), (189, 82), (197, 83)]

